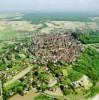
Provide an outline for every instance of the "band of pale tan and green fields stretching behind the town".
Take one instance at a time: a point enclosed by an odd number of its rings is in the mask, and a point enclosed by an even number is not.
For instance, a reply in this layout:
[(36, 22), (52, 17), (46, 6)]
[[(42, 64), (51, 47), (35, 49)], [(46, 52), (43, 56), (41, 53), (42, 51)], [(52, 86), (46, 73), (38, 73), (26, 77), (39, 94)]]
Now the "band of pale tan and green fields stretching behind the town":
[(28, 21), (0, 21), (0, 40), (13, 40), (26, 38), (36, 34), (54, 33), (58, 30), (76, 31), (77, 29), (98, 30), (97, 22), (80, 21), (44, 21), (39, 24), (31, 24)]

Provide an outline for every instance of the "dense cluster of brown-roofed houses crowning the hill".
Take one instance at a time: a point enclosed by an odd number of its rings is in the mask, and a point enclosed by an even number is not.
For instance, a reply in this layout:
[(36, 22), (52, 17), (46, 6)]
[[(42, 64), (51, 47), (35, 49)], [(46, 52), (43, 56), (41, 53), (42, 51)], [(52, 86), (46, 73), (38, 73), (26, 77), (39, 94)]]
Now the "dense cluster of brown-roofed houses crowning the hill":
[(41, 35), (33, 40), (31, 52), (40, 57), (40, 61), (64, 61), (70, 63), (76, 60), (81, 52), (81, 43), (74, 39), (71, 33)]

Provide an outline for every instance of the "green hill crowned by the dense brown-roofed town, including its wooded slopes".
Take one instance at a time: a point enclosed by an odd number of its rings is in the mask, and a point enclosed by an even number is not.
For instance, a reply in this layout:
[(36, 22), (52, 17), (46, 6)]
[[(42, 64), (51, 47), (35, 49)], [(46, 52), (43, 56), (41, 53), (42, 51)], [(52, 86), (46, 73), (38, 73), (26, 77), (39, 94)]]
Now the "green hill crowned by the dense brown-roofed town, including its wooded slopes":
[(93, 91), (96, 94), (99, 53), (72, 34), (38, 35), (31, 41), (10, 44), (0, 59), (4, 99), (16, 93), (25, 95), (31, 89), (57, 99), (85, 99)]

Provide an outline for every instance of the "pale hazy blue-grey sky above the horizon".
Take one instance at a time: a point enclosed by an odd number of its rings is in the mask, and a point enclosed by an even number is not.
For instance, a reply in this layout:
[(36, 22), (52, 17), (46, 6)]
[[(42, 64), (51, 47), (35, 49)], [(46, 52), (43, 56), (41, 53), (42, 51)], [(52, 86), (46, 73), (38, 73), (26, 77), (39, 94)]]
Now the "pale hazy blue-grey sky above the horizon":
[(99, 0), (0, 0), (0, 11), (29, 10), (99, 13)]

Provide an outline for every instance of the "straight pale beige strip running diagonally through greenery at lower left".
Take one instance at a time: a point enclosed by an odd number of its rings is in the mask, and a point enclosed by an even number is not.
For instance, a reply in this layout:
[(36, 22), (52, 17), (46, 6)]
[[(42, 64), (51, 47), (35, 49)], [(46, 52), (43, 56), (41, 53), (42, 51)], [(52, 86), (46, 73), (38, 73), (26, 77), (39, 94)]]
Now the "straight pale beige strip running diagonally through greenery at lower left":
[(20, 73), (17, 74), (16, 76), (14, 76), (12, 80), (6, 82), (6, 83), (4, 84), (4, 86), (7, 86), (7, 85), (13, 83), (14, 81), (20, 79), (21, 77), (25, 76), (29, 71), (31, 71), (32, 68), (33, 68), (33, 66), (30, 66), (30, 67), (24, 69), (22, 72), (20, 72)]

